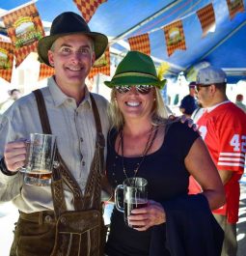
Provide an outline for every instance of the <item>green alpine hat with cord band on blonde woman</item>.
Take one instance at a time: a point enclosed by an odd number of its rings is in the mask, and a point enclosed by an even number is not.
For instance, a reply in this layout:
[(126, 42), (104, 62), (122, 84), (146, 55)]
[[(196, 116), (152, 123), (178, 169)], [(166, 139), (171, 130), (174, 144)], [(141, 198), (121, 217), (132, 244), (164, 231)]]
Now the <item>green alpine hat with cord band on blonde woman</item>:
[(149, 55), (139, 51), (128, 51), (118, 65), (111, 81), (104, 82), (113, 88), (121, 85), (153, 85), (162, 89), (166, 79), (160, 80)]

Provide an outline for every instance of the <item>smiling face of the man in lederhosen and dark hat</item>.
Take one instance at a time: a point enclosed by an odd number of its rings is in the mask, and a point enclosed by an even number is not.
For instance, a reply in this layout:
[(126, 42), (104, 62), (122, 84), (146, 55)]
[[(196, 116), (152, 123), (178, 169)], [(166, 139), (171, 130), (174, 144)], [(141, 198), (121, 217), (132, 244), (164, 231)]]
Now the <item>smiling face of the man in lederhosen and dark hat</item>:
[(48, 59), (59, 86), (83, 86), (95, 62), (93, 42), (80, 34), (61, 37), (48, 51)]

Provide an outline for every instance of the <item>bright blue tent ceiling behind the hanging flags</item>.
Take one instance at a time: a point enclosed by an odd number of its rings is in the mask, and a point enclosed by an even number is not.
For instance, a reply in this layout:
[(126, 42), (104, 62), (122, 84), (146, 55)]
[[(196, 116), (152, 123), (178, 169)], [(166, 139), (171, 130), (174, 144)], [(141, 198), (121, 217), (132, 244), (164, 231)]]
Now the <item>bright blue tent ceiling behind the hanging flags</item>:
[[(9, 11), (27, 2), (1, 1), (0, 8)], [(243, 2), (246, 7), (246, 0)], [(209, 3), (214, 8), (216, 29), (202, 38), (196, 12)], [(79, 13), (72, 0), (39, 0), (36, 6), (46, 21), (46, 30), (57, 14)], [(182, 20), (186, 50), (177, 50), (169, 57), (162, 27), (178, 18)], [(99, 6), (89, 25), (93, 31), (106, 34), (118, 54), (129, 49), (128, 38), (149, 33), (151, 56), (156, 63), (168, 62), (171, 74), (185, 73), (194, 65), (208, 62), (225, 69), (233, 82), (246, 79), (246, 13), (236, 14), (231, 20), (226, 0), (108, 0)]]

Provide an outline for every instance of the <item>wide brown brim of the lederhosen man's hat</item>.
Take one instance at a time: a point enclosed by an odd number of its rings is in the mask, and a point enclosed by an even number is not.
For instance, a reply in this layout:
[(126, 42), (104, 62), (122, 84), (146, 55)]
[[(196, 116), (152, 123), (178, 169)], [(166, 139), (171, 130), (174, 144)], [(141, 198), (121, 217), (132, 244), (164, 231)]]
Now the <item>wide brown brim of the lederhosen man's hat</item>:
[(41, 59), (41, 62), (45, 63), (46, 65), (50, 66), (48, 61), (48, 50), (52, 46), (52, 44), (61, 37), (68, 36), (68, 35), (75, 35), (75, 34), (82, 34), (86, 35), (93, 39), (94, 41), (94, 47), (95, 47), (95, 55), (96, 60), (103, 54), (105, 51), (107, 45), (108, 45), (108, 38), (100, 33), (97, 32), (74, 32), (74, 33), (64, 33), (64, 34), (58, 34), (55, 36), (47, 36), (41, 38), (41, 40), (38, 43), (38, 53), (39, 57)]

